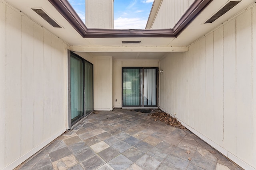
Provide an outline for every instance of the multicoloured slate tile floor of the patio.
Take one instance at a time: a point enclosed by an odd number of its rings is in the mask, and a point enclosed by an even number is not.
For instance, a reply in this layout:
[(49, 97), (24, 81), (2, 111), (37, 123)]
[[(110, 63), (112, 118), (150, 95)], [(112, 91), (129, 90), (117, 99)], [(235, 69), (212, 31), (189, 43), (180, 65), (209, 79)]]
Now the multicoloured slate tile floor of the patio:
[(240, 170), (190, 131), (148, 114), (92, 113), (20, 170)]

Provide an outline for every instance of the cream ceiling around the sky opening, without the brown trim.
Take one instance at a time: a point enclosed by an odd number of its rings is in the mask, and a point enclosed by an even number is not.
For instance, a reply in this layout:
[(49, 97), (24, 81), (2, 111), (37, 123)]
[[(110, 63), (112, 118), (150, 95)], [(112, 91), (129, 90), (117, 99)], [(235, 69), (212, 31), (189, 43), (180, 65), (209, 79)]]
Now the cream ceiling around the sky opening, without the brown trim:
[[(218, 18), (213, 23), (204, 24), (208, 18), (220, 10), (230, 0), (213, 0), (213, 2), (194, 20), (177, 38), (87, 38), (81, 35), (66, 21), (66, 19), (48, 2), (48, 0), (5, 0), (13, 7), (22, 11), (32, 20), (42, 25), (54, 35), (63, 39), (73, 49), (84, 49), (92, 56), (113, 56), (114, 59), (160, 59), (163, 55), (173, 51), (186, 51), (184, 48), (193, 41), (208, 33), (232, 16), (238, 14), (246, 7), (253, 4), (255, 0), (242, 0), (238, 5)], [(31, 8), (42, 8), (62, 28), (54, 28)], [(141, 41), (140, 44), (122, 44), (122, 41)], [(97, 46), (99, 48), (97, 48)], [(76, 48), (77, 47), (77, 48)], [(88, 47), (93, 47), (92, 51)], [(102, 51), (102, 47), (112, 49), (111, 52)], [(109, 48), (108, 48), (109, 47)], [(124, 48), (128, 47), (128, 48)], [(162, 48), (160, 48), (162, 47)], [(174, 50), (175, 47), (177, 50)], [(132, 52), (132, 49), (137, 52)], [(164, 48), (164, 50), (162, 50)], [(97, 51), (98, 49), (98, 51)], [(116, 51), (115, 51), (116, 49)], [(127, 50), (126, 50), (127, 49)], [(155, 51), (155, 52), (149, 52)], [(80, 52), (82, 52), (80, 50)]]

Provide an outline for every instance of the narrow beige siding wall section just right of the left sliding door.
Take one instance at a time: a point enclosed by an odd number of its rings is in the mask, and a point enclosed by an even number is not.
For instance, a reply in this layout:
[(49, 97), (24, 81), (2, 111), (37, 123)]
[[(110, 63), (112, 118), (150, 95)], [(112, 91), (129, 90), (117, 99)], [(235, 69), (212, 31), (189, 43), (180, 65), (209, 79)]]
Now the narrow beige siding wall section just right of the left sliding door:
[(94, 110), (110, 111), (112, 105), (112, 57), (95, 57)]

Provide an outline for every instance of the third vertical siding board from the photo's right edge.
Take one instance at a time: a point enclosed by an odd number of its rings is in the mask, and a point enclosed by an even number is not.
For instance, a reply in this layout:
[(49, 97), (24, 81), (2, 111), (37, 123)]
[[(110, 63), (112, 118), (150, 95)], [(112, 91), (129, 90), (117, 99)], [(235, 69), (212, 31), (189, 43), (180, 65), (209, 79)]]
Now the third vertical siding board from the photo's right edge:
[(236, 20), (224, 25), (224, 148), (236, 154)]

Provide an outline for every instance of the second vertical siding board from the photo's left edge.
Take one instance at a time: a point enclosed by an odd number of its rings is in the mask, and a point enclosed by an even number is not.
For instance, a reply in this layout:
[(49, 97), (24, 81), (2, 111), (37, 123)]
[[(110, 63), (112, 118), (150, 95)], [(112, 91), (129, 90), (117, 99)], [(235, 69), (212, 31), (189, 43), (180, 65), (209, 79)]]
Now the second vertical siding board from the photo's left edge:
[[(13, 41), (15, 40), (15, 41)], [(21, 16), (6, 8), (6, 165), (20, 157)], [(15, 50), (14, 50), (15, 49)], [(14, 121), (16, 120), (16, 121)], [(8, 150), (8, 151), (7, 151)]]

